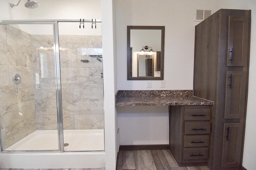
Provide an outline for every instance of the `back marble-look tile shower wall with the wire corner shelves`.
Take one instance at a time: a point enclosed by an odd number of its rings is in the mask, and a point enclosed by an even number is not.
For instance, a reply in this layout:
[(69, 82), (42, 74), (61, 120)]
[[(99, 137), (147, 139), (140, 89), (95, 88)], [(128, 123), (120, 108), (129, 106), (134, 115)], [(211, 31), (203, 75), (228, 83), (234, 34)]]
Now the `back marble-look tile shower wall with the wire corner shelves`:
[[(34, 64), (40, 82), (35, 82), (36, 126), (57, 129), (54, 57), (53, 51), (49, 51), (52, 37), (32, 35), (32, 42), (32, 50), (39, 56)], [(103, 129), (102, 63), (89, 56), (100, 53), (101, 36), (60, 35), (59, 42), (64, 129)], [(38, 47), (44, 49), (36, 51)], [(82, 59), (89, 63), (82, 63)], [(42, 76), (42, 62), (46, 76)]]

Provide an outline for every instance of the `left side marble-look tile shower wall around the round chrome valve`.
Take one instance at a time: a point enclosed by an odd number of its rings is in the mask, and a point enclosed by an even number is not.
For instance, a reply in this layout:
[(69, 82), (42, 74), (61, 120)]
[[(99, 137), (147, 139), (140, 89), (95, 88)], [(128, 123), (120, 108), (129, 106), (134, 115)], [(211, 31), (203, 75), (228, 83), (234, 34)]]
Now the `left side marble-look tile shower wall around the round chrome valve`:
[[(10, 25), (0, 25), (0, 125), (3, 148), (36, 130), (31, 36)], [(19, 73), (21, 83), (12, 75)]]

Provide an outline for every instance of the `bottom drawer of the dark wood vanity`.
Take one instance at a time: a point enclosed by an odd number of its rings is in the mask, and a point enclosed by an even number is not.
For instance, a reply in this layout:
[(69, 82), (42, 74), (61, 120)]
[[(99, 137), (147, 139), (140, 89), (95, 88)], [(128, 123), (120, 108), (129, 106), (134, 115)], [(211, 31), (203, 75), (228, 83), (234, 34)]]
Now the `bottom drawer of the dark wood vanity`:
[(208, 148), (184, 148), (183, 159), (207, 159)]

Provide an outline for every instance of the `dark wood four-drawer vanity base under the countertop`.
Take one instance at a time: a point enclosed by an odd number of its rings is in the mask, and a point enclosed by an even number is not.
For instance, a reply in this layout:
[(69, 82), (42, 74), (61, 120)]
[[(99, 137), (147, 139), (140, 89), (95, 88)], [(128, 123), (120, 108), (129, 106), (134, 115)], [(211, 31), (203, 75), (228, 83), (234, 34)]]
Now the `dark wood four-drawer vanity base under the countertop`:
[(208, 162), (210, 107), (169, 106), (170, 151), (179, 166), (206, 165)]

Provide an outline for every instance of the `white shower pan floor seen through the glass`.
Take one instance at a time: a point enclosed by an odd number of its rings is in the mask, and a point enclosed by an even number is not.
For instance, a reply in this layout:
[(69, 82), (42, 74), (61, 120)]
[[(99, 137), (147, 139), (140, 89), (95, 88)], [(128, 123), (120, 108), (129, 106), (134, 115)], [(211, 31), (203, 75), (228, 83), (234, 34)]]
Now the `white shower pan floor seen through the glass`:
[[(104, 129), (64, 130), (64, 151), (104, 150)], [(36, 130), (5, 150), (58, 150), (57, 130)]]

